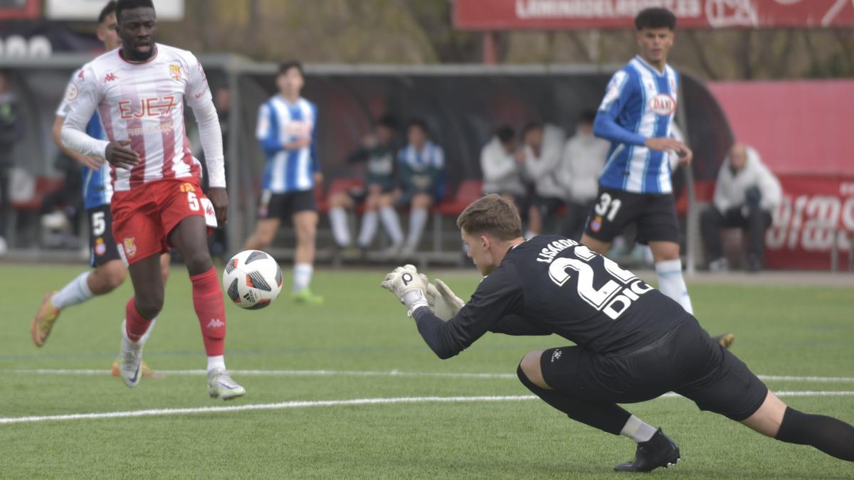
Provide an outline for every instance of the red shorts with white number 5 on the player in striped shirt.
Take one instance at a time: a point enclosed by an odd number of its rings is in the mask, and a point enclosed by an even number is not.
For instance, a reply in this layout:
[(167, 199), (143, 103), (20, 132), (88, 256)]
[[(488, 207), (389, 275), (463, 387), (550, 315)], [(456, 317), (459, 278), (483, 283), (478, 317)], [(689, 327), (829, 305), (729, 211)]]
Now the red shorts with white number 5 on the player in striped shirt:
[(198, 179), (166, 179), (113, 194), (113, 237), (132, 265), (169, 251), (169, 232), (190, 216), (205, 216)]

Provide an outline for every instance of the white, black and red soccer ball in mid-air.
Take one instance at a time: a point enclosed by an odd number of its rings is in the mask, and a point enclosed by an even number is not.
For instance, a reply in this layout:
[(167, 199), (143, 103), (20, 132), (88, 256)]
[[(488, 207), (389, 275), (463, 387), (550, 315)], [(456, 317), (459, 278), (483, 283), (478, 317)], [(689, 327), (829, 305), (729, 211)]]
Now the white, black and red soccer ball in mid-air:
[(243, 250), (225, 264), (222, 288), (237, 307), (257, 310), (270, 305), (282, 291), (282, 269), (260, 250)]

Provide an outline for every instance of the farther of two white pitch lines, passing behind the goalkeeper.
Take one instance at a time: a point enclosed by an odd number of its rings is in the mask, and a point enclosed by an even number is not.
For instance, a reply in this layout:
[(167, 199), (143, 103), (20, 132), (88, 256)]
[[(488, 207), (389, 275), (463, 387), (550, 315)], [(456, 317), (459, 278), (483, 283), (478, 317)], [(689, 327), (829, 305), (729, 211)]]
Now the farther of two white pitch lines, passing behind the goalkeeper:
[[(207, 375), (205, 370), (156, 370), (164, 375)], [(109, 375), (109, 370), (86, 370), (86, 369), (8, 369), (0, 370), (0, 373), (21, 373), (26, 375)], [(371, 372), (355, 370), (229, 370), (233, 375), (248, 376), (305, 376), (305, 377), (439, 377), (439, 378), (511, 378), (516, 379), (513, 373), (465, 373), (465, 372), (400, 372), (390, 370), (389, 372)], [(788, 375), (757, 375), (760, 380), (775, 382), (810, 382), (810, 383), (854, 383), (854, 377), (793, 377)]]

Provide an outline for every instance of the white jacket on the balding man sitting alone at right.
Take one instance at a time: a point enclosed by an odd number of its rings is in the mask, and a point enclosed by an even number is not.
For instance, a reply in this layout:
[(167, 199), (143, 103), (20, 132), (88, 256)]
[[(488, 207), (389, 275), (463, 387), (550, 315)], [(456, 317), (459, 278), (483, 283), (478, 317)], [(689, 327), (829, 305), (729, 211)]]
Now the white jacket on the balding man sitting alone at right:
[(721, 213), (744, 205), (746, 191), (754, 185), (762, 192), (760, 208), (772, 211), (780, 205), (783, 196), (780, 180), (765, 166), (756, 150), (747, 147), (745, 166), (735, 175), (729, 165), (730, 159), (727, 157), (717, 173), (715, 184), (715, 208)]

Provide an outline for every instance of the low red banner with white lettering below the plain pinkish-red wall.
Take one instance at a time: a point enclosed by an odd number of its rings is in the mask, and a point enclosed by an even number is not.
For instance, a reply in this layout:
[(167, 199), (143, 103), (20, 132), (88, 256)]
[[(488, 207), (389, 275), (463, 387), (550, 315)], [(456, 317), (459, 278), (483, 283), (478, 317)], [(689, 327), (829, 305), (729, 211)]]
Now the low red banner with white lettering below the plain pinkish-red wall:
[(783, 202), (765, 232), (771, 268), (830, 268), (836, 244), (839, 266), (848, 265), (854, 242), (854, 177), (782, 175)]

